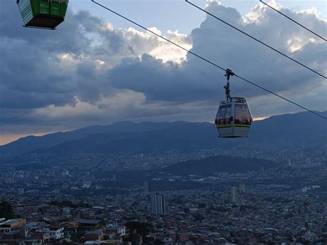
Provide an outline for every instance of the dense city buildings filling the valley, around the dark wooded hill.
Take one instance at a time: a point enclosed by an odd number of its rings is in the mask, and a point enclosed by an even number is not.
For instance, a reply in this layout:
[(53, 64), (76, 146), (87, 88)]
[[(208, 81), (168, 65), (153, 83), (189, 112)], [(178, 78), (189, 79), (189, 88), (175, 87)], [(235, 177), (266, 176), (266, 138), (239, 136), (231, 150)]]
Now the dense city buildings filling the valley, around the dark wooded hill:
[(165, 172), (214, 153), (75, 155), (6, 166), (0, 243), (326, 243), (326, 153), (258, 152), (280, 164), (243, 173)]

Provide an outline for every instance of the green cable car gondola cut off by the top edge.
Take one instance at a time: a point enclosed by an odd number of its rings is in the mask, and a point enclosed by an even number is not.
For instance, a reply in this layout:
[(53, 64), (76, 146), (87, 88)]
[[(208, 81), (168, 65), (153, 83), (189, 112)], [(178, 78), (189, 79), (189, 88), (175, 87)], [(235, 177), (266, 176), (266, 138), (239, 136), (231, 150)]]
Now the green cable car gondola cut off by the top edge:
[(64, 21), (68, 0), (17, 0), (24, 27), (55, 29)]

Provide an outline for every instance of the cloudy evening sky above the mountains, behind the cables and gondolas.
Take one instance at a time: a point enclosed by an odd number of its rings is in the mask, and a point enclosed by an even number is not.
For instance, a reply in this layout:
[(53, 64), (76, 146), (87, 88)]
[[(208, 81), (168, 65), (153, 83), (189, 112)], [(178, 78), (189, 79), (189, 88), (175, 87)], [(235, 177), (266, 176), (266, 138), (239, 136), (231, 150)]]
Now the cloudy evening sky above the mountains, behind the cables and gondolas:
[[(55, 31), (22, 27), (0, 3), (0, 144), (115, 121), (213, 121), (224, 73), (87, 0), (71, 0)], [(100, 3), (185, 48), (312, 110), (326, 110), (326, 79), (206, 17), (184, 0)], [(200, 1), (226, 21), (327, 75), (326, 41), (259, 1)], [(275, 1), (326, 37), (326, 2)], [(232, 77), (255, 118), (299, 108)]]

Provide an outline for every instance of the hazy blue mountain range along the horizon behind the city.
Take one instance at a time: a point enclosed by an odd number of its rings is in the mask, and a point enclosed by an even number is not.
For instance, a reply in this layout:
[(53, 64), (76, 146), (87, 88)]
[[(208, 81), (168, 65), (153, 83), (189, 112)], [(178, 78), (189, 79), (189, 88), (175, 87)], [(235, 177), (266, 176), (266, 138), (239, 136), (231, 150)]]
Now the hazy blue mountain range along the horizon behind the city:
[[(319, 112), (327, 116), (327, 111)], [(215, 124), (186, 121), (134, 123), (121, 121), (109, 126), (90, 126), (41, 137), (28, 136), (0, 146), (0, 159), (26, 153), (160, 153), (166, 150), (192, 152), (226, 148), (289, 148), (326, 144), (327, 124), (310, 112), (277, 115), (252, 124), (250, 136), (221, 139)]]

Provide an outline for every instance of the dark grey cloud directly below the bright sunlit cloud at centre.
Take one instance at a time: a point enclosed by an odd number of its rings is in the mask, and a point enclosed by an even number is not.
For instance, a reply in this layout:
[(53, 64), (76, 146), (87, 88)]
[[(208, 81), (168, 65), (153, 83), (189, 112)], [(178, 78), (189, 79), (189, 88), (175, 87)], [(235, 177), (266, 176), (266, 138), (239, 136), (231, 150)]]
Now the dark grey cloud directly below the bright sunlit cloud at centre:
[(195, 101), (203, 98), (197, 92), (201, 86), (199, 80), (195, 83), (186, 72), (188, 70), (175, 63), (162, 63), (160, 59), (142, 55), (141, 60), (123, 59), (110, 72), (110, 80), (116, 88), (143, 92), (149, 100), (189, 101), (192, 97)]

